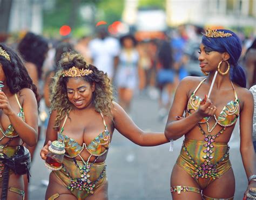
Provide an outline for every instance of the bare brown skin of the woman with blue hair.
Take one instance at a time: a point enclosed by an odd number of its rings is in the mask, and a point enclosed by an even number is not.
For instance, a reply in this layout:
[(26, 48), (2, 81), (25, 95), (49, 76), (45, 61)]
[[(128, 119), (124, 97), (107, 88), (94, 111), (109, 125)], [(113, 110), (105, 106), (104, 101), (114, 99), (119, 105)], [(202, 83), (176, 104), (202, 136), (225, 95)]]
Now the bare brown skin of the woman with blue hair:
[[(201, 99), (204, 99), (204, 101), (201, 102), (198, 110), (194, 111), (192, 115), (177, 120), (176, 116), (183, 115), (191, 93), (196, 89), (197, 85), (201, 80), (203, 80), (204, 77), (184, 78), (184, 80), (180, 82), (176, 91), (176, 95), (174, 97), (166, 123), (165, 135), (167, 138), (176, 140), (185, 135), (185, 138), (187, 139), (204, 140), (204, 135), (199, 134), (199, 129), (197, 126), (200, 119), (206, 116), (213, 116), (214, 114), (218, 117), (224, 106), (231, 100), (235, 99), (229, 73), (225, 76), (218, 74), (213, 85), (210, 99), (207, 99), (206, 95), (210, 89), (218, 63), (221, 60), (228, 60), (229, 58), (230, 55), (228, 53), (210, 52), (204, 47), (204, 45), (200, 45), (199, 61), (201, 70), (203, 72), (210, 73), (207, 80), (201, 84), (196, 93), (196, 95), (201, 97)], [(225, 72), (225, 70), (225, 64), (221, 65), (221, 71)], [(250, 177), (251, 175), (255, 174), (254, 149), (252, 143), (252, 118), (254, 108), (253, 96), (250, 91), (240, 87), (237, 84), (234, 84), (234, 88), (237, 92), (240, 105), (240, 152), (246, 175), (247, 177)], [(214, 123), (215, 120), (210, 119), (210, 127), (212, 127)], [(202, 124), (201, 126), (203, 127), (203, 130), (207, 132), (206, 124)], [(220, 130), (221, 127), (217, 125), (211, 134), (216, 134)], [(234, 125), (227, 127), (225, 134), (222, 134), (220, 137), (216, 138), (215, 141), (228, 142), (231, 138), (233, 130)], [(171, 186), (177, 185), (186, 185), (199, 188), (199, 185), (190, 175), (188, 175), (182, 168), (175, 165), (173, 167), (171, 176)], [(250, 187), (256, 187), (256, 183), (252, 181), (250, 185), (248, 185), (248, 188)], [(212, 184), (208, 185), (208, 187), (203, 190), (203, 194), (214, 198), (230, 198), (234, 196), (234, 189), (234, 174), (231, 168)], [(248, 192), (248, 190), (246, 190), (246, 192)], [(181, 192), (180, 195), (177, 195), (177, 193), (172, 194), (173, 199), (186, 199), (188, 197), (189, 199), (201, 199), (201, 195), (195, 192)]]

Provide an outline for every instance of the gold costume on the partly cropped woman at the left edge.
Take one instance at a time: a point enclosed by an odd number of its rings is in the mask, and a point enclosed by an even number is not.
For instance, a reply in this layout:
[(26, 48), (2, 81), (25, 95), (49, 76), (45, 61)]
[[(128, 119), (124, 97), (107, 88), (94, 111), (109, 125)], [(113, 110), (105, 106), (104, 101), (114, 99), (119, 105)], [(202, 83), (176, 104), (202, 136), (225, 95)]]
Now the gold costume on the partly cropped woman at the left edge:
[[(18, 117), (21, 117), (22, 120), (25, 122), (25, 115), (23, 112), (23, 108), (21, 106), (21, 104), (19, 103), (18, 97), (15, 94), (15, 98), (16, 101), (19, 105), (19, 113), (17, 114)], [(8, 146), (9, 143), (11, 142), (12, 138), (17, 138), (19, 137), (19, 135), (15, 132), (14, 127), (10, 124), (6, 130), (4, 131), (2, 127), (0, 127), (0, 132), (3, 134), (2, 137), (0, 138), (0, 142), (4, 139), (4, 138), (10, 138), (10, 140), (8, 142), (6, 142), (5, 144), (1, 144), (0, 145), (0, 187), (2, 187), (2, 182), (3, 182), (3, 172), (4, 172), (4, 163), (3, 161), (1, 161), (1, 158), (4, 158), (3, 155), (5, 154), (6, 156), (8, 156), (9, 158), (13, 155), (15, 155), (20, 146)], [(11, 174), (13, 174), (14, 172), (12, 172), (11, 169), (9, 169), (9, 176)], [(19, 194), (22, 196), (22, 199), (25, 199), (25, 192), (23, 190), (20, 190), (18, 188), (14, 188), (14, 187), (9, 187), (9, 191), (15, 192), (16, 194)]]

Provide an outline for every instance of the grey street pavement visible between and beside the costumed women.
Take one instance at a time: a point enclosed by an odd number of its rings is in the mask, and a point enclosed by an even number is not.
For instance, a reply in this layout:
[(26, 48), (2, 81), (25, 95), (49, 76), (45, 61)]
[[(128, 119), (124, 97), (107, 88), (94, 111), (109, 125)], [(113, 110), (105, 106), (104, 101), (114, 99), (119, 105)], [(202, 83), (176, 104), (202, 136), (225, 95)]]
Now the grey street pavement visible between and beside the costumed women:
[[(136, 95), (133, 99), (131, 118), (145, 131), (163, 132), (164, 120), (159, 120), (158, 103), (146, 95)], [(229, 143), (230, 160), (235, 174), (235, 197), (242, 199), (247, 187), (247, 179), (239, 152), (238, 124)], [(109, 153), (107, 155), (107, 179), (109, 180), (110, 200), (145, 200), (172, 199), (170, 195), (170, 175), (179, 155), (183, 138), (174, 142), (173, 152), (169, 152), (169, 144), (157, 147), (140, 147), (114, 132)], [(31, 168), (29, 188), (30, 200), (43, 200), (50, 171), (44, 167), (39, 151), (44, 137), (39, 140), (35, 152), (35, 160)]]

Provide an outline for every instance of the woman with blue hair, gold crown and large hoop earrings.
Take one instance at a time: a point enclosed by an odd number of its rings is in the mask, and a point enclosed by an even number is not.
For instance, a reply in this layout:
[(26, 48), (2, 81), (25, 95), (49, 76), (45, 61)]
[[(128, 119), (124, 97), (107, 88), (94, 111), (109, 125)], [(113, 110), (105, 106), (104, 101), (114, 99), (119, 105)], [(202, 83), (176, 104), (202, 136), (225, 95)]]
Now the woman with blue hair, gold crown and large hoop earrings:
[[(206, 77), (188, 76), (178, 86), (165, 127), (165, 136), (170, 140), (185, 135), (171, 175), (173, 199), (234, 198), (235, 180), (228, 141), (238, 117), (240, 152), (248, 188), (256, 187), (253, 97), (245, 88), (245, 73), (238, 65), (241, 51), (241, 41), (232, 31), (207, 29), (198, 58)], [(212, 95), (208, 97), (212, 82)], [(185, 118), (179, 117), (184, 111)]]

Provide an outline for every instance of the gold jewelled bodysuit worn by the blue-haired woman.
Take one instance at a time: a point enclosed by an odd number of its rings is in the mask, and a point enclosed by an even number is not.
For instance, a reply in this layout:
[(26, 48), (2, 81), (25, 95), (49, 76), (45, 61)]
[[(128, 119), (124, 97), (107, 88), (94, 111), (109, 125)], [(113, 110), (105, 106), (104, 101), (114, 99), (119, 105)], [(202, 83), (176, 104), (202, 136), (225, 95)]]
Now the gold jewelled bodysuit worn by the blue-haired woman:
[[(192, 92), (187, 103), (186, 116), (191, 115), (192, 111), (196, 111), (202, 99), (196, 96), (196, 92), (200, 85), (206, 80), (201, 81), (198, 87)], [(233, 83), (231, 82), (234, 89)], [(210, 128), (208, 121), (211, 117), (205, 117), (198, 123), (200, 133), (204, 135), (204, 140), (186, 139), (183, 141), (177, 165), (183, 168), (200, 186), (204, 189), (215, 178), (219, 178), (231, 168), (228, 154), (228, 145), (226, 142), (215, 142), (215, 139), (224, 133), (226, 127), (232, 126), (239, 117), (239, 100), (234, 90), (235, 100), (228, 102), (220, 115), (214, 115), (215, 124)], [(207, 133), (200, 124), (206, 123)], [(221, 130), (212, 135), (215, 126), (221, 126)]]

